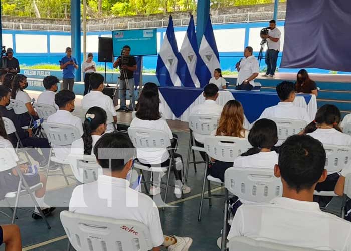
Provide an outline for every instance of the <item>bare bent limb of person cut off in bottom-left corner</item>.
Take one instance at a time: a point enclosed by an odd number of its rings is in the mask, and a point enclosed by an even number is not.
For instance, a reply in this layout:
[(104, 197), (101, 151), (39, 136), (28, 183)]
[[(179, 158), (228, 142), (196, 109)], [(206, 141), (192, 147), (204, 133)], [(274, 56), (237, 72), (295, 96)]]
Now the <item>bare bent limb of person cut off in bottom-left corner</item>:
[(17, 225), (0, 225), (0, 245), (5, 244), (6, 251), (21, 251), (21, 233)]

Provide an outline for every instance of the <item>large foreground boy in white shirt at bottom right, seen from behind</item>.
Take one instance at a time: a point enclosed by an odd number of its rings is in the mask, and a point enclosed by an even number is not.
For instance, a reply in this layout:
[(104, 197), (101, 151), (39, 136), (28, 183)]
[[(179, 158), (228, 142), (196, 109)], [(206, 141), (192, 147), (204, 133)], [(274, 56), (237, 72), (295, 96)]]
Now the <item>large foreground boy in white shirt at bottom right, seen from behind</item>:
[(246, 204), (234, 216), (228, 240), (255, 240), (319, 250), (351, 250), (351, 223), (319, 209), (313, 202), (318, 182), (326, 179), (323, 145), (310, 136), (290, 136), (280, 149), (274, 174), (283, 196), (270, 203)]

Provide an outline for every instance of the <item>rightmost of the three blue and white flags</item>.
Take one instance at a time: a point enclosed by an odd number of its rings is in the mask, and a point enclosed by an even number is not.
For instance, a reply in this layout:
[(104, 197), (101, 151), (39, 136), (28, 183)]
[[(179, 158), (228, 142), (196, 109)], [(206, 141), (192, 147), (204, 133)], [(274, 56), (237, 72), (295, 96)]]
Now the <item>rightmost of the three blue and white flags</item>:
[(198, 76), (201, 87), (209, 83), (216, 68), (220, 68), (219, 54), (209, 16), (204, 35), (201, 39), (199, 57), (196, 64), (196, 75)]

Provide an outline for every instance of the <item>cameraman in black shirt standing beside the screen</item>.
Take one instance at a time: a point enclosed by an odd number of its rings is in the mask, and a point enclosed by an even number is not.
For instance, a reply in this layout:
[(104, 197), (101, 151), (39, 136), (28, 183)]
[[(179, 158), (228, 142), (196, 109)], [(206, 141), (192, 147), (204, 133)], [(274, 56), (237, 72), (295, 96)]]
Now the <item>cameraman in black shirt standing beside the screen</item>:
[[(136, 71), (136, 59), (130, 55), (130, 46), (125, 45), (122, 48), (121, 56), (113, 63), (113, 67), (117, 68), (119, 66), (120, 76), (119, 76), (119, 98), (121, 100), (121, 107), (117, 111), (133, 111), (135, 107), (135, 96), (134, 96), (134, 71)], [(127, 81), (124, 79), (123, 71), (125, 71), (129, 86), (127, 86)], [(131, 95), (131, 100), (129, 104), (129, 109), (125, 103), (126, 90), (129, 89)]]

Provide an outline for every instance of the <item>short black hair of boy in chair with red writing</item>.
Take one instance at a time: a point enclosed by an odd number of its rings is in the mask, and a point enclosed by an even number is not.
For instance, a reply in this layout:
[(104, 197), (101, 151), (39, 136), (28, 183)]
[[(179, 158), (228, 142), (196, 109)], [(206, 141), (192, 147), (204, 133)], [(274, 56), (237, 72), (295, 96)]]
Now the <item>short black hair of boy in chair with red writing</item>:
[(135, 148), (126, 134), (109, 133), (104, 134), (96, 142), (94, 154), (102, 168), (121, 171), (125, 164), (134, 157)]

